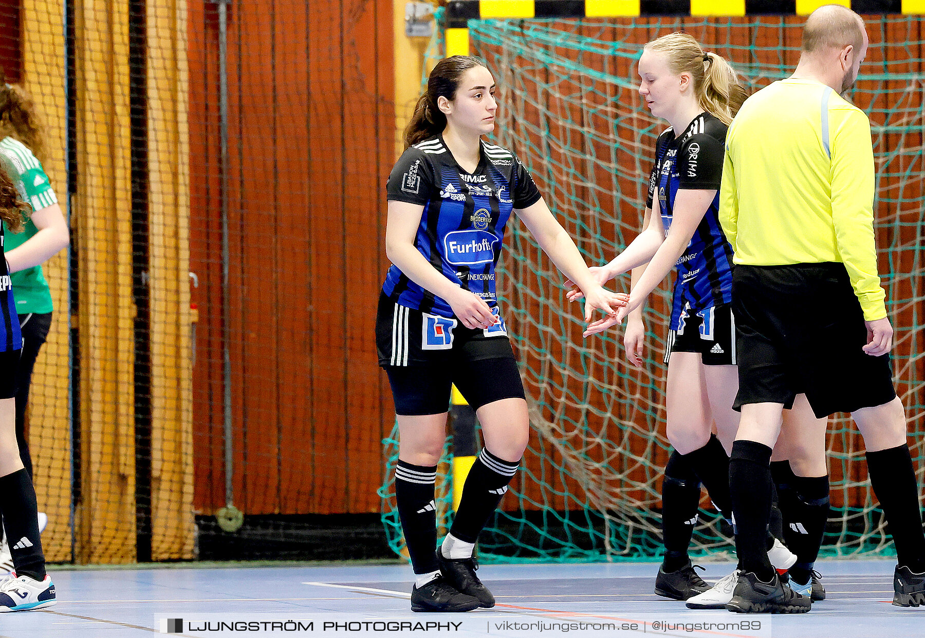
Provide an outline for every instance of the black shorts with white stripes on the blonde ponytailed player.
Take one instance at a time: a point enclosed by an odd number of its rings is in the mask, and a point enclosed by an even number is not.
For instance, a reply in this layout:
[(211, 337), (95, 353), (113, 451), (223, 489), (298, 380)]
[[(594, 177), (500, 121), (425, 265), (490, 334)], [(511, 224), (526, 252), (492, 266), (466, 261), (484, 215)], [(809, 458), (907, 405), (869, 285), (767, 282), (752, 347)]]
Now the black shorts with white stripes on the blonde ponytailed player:
[(704, 365), (735, 365), (735, 319), (732, 304), (681, 314), (681, 325), (668, 331), (665, 362), (672, 352), (699, 352)]

